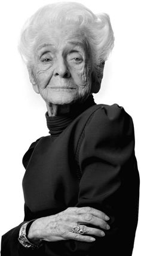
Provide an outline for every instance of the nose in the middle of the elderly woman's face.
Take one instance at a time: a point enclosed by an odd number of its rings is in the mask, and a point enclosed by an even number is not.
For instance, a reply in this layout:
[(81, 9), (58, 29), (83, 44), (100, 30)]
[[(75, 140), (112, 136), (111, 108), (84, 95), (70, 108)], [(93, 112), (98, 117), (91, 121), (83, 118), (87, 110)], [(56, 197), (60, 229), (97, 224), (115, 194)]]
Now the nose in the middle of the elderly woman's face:
[(61, 76), (63, 78), (69, 78), (71, 76), (70, 71), (68, 70), (68, 67), (63, 58), (60, 58), (59, 61), (56, 62), (54, 76)]

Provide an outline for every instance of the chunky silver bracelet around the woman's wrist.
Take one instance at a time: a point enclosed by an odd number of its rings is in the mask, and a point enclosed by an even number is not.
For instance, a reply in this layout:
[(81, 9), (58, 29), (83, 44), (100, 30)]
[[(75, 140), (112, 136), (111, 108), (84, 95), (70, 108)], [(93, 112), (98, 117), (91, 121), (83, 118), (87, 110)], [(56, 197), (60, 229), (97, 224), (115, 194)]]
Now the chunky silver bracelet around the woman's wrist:
[(27, 237), (26, 237), (26, 227), (30, 222), (32, 221), (27, 221), (24, 222), (24, 224), (22, 225), (22, 227), (20, 228), (20, 232), (19, 232), (19, 242), (25, 247), (25, 248), (30, 248), (30, 249), (38, 249), (39, 247), (41, 247), (42, 244), (40, 245), (33, 245), (33, 243), (31, 243)]

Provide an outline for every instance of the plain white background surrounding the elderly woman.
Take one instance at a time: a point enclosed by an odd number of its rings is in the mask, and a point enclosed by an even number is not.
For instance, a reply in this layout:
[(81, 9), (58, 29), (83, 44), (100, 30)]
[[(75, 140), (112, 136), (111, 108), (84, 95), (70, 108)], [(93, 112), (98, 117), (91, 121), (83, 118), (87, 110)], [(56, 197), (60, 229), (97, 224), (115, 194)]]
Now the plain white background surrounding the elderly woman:
[[(17, 44), (26, 19), (50, 2), (53, 1), (5, 0), (1, 3), (1, 234), (23, 221), (22, 157), (33, 141), (48, 135), (45, 103), (32, 90)], [(132, 116), (136, 157), (141, 171), (140, 1), (77, 2), (94, 13), (105, 12), (111, 17), (115, 47), (105, 65), (102, 88), (94, 98), (96, 103), (118, 103)], [(139, 218), (133, 256), (140, 255), (140, 237)]]

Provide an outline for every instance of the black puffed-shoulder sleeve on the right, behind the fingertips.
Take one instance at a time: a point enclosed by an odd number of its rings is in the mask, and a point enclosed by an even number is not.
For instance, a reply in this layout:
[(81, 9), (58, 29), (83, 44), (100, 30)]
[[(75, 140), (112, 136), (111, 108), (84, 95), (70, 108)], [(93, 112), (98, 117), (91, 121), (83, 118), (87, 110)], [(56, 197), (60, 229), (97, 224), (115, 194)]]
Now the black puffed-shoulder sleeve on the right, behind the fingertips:
[(98, 255), (131, 255), (137, 227), (139, 172), (133, 121), (123, 107), (104, 105), (88, 118), (78, 154), (82, 177), (77, 207), (90, 206), (109, 217), (110, 230), (96, 237)]

